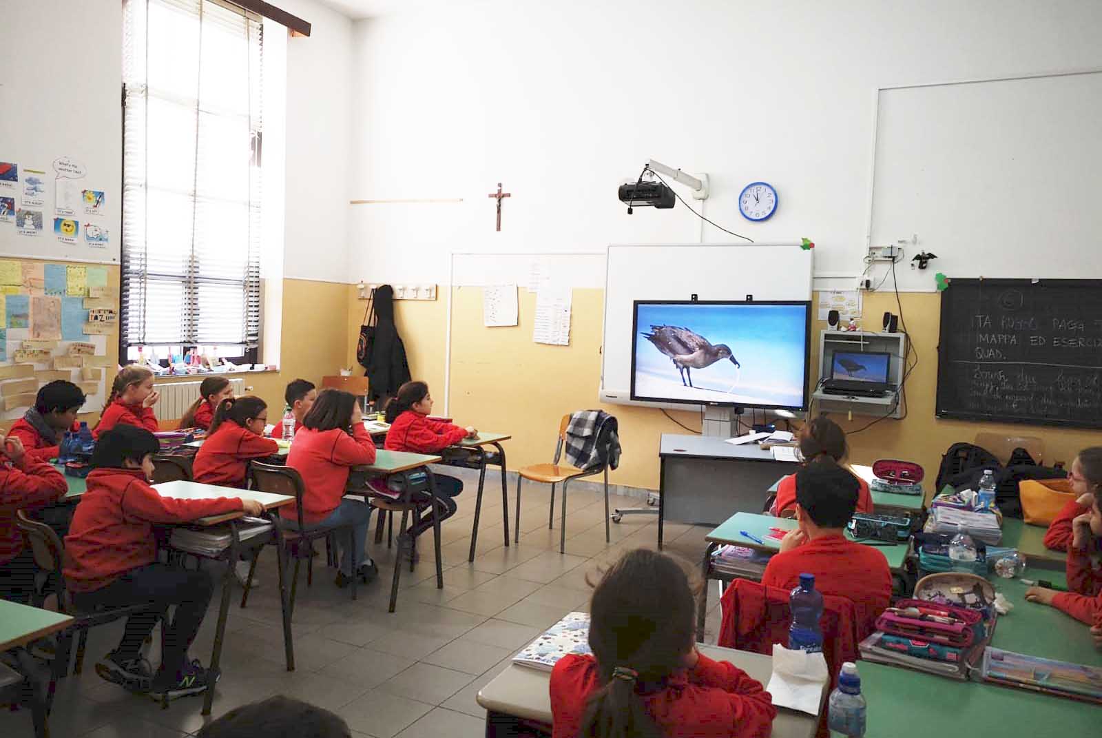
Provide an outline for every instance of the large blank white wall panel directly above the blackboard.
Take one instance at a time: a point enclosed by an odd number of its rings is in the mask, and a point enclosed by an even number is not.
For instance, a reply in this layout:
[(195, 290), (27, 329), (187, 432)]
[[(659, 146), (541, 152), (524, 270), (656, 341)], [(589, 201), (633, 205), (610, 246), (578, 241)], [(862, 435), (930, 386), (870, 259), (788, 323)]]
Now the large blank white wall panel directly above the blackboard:
[[(918, 236), (900, 289), (1102, 275), (1100, 121), (1102, 72), (880, 89), (869, 233)], [(938, 258), (911, 269), (916, 250)]]

